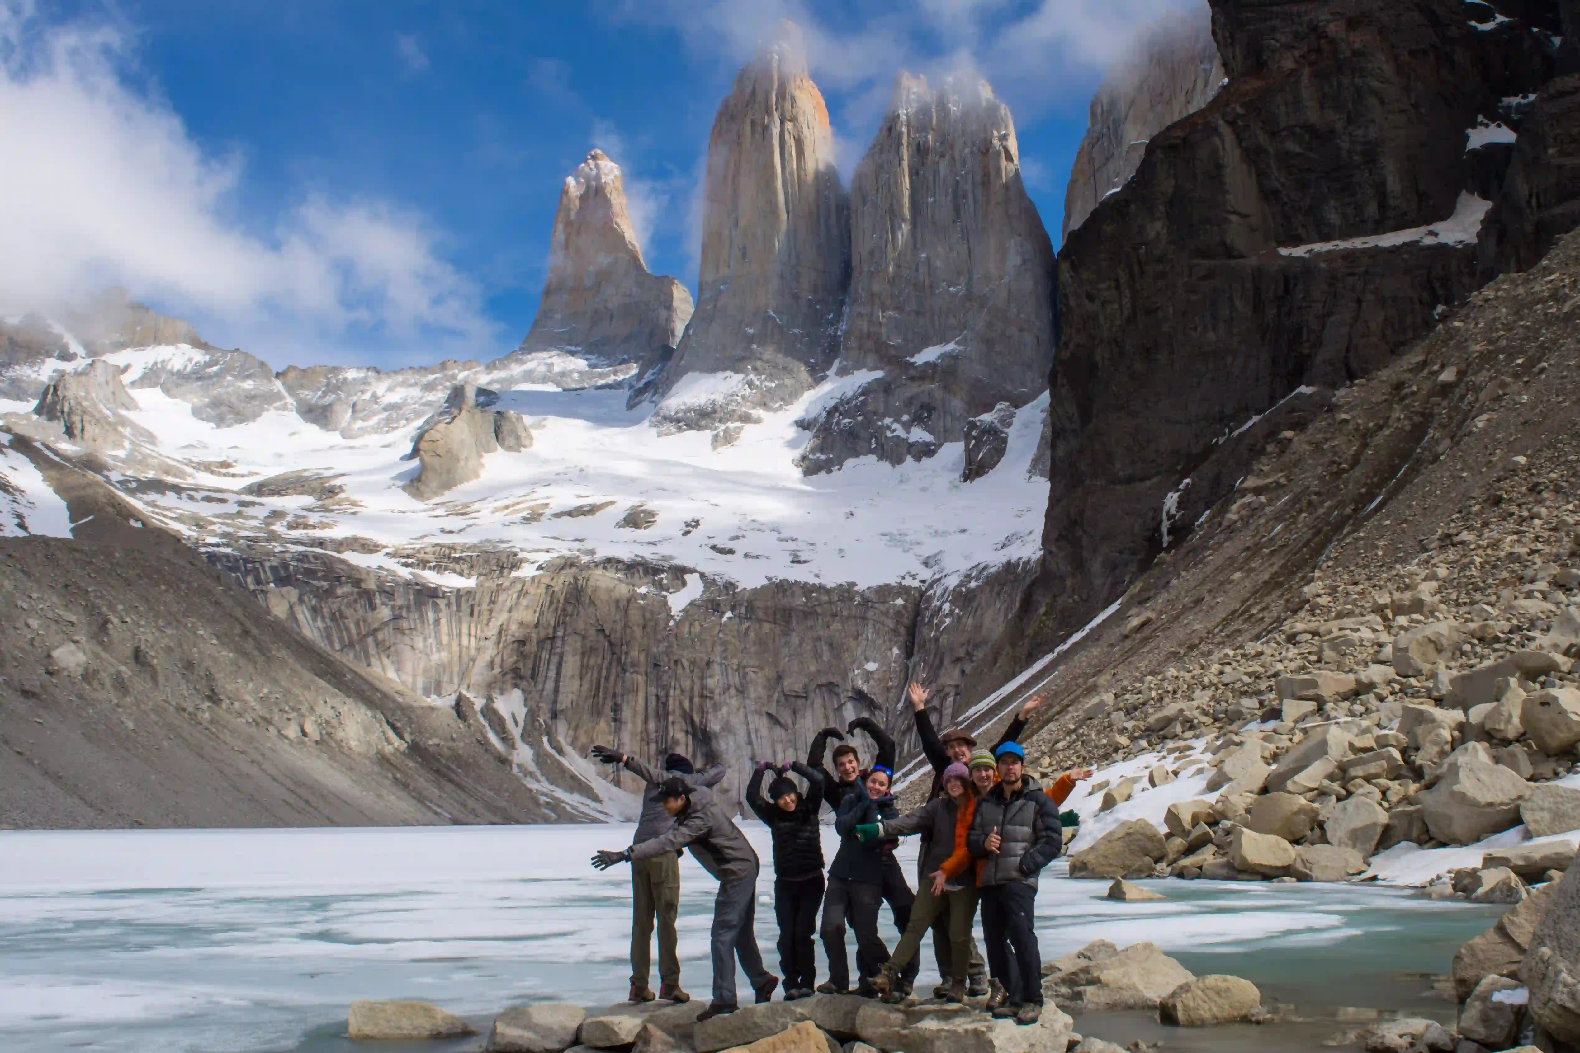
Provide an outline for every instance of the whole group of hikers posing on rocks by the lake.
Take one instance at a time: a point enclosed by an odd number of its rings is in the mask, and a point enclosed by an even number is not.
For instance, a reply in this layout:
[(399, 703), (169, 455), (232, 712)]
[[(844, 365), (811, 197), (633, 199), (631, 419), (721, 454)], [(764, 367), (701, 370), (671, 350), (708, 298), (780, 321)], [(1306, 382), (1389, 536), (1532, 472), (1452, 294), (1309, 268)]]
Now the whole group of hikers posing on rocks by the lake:
[[(856, 935), (855, 993), (901, 1001), (912, 991), (921, 941), (931, 928), (943, 979), (934, 990), (935, 998), (962, 1002), (986, 995), (994, 1017), (1030, 1025), (1043, 1009), (1043, 961), (1035, 928), (1036, 879), (1063, 848), (1059, 805), (1092, 770), (1074, 769), (1051, 786), (1041, 786), (1025, 772), (1025, 751), (1018, 740), (1041, 696), (1021, 707), (992, 750), (978, 748), (976, 739), (964, 728), (950, 728), (940, 736), (927, 714), (927, 698), (929, 691), (920, 684), (907, 690), (921, 750), (932, 766), (927, 800), (908, 815), (899, 813), (891, 793), (894, 740), (871, 718), (852, 720), (844, 733), (837, 728), (820, 731), (804, 764), (763, 761), (752, 772), (746, 804), (773, 834), (784, 998), (809, 998), (814, 991), (850, 993), (848, 927)], [(856, 731), (867, 734), (875, 745), (867, 767), (845, 737)], [(834, 767), (828, 770), (823, 755), (834, 739), (839, 745), (833, 750)], [(698, 1018), (738, 1007), (736, 961), (752, 984), (755, 1001), (769, 1001), (781, 977), (763, 966), (752, 930), (760, 862), (711, 793), (724, 778), (724, 766), (697, 772), (687, 758), (670, 753), (660, 770), (602, 745), (592, 747), (592, 755), (607, 764), (623, 766), (646, 783), (630, 848), (600, 851), (592, 857), (599, 870), (623, 862), (632, 867), (630, 1001), (690, 998), (681, 990), (675, 946), (679, 854), (687, 848), (719, 879), (711, 935), (713, 1001)], [(790, 778), (792, 772), (806, 781), (804, 789)], [(826, 875), (820, 830), (823, 804), (834, 813), (839, 834), (839, 851)], [(921, 837), (916, 890), (912, 890), (894, 859), (899, 838), (908, 835)], [(893, 954), (878, 935), (883, 903), (902, 933)], [(988, 949), (986, 968), (972, 936), (978, 905)], [(648, 987), (654, 925), (659, 936), (657, 995)], [(828, 958), (828, 980), (823, 984), (817, 984), (814, 930), (822, 936)]]

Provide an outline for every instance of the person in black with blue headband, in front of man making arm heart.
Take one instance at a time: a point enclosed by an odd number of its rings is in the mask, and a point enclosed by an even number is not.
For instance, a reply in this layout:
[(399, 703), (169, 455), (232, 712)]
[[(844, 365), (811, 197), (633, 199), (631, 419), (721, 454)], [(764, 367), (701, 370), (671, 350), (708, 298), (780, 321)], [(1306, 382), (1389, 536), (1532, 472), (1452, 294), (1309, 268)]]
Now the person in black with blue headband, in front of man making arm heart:
[[(878, 903), (883, 897), (883, 857), (893, 854), (899, 838), (875, 838), (863, 841), (858, 826), (872, 826), (883, 819), (897, 819), (899, 810), (890, 796), (891, 774), (874, 767), (861, 781), (863, 793), (845, 794), (839, 802), (834, 829), (839, 830), (839, 851), (834, 865), (828, 868), (828, 894), (823, 897), (823, 954), (828, 955), (830, 984), (818, 990), (844, 995), (850, 988), (850, 965), (845, 958), (845, 920), (856, 930), (856, 974), (861, 979), (858, 995), (875, 998), (880, 991), (872, 977), (888, 961), (888, 946), (878, 936)], [(908, 890), (908, 887), (907, 887)], [(912, 974), (913, 977), (915, 974)]]

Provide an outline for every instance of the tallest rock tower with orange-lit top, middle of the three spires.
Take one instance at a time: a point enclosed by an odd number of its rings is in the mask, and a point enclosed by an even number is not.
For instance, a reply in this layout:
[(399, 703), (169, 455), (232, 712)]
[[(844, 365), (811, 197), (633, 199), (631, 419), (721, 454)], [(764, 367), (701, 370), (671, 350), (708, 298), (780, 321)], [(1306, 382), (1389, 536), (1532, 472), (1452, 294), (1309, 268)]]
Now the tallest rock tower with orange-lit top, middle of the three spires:
[[(848, 281), (850, 213), (828, 107), (787, 30), (741, 69), (713, 122), (697, 313), (659, 385), (675, 396), (660, 401), (660, 423), (752, 420), (811, 388), (834, 362)], [(702, 374), (741, 380), (687, 382)], [(702, 388), (709, 398), (695, 398)]]

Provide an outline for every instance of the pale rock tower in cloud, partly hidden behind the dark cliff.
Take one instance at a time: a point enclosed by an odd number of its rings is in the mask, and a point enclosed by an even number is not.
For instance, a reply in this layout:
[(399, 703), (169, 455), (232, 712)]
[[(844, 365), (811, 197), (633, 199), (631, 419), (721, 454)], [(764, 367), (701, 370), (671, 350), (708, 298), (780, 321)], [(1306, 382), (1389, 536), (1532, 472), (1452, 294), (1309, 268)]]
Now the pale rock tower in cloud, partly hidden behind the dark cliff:
[(1199, 111), (1221, 85), (1223, 60), (1206, 3), (1149, 28), (1092, 96), (1087, 133), (1065, 189), (1063, 237), (1130, 182), (1152, 136)]

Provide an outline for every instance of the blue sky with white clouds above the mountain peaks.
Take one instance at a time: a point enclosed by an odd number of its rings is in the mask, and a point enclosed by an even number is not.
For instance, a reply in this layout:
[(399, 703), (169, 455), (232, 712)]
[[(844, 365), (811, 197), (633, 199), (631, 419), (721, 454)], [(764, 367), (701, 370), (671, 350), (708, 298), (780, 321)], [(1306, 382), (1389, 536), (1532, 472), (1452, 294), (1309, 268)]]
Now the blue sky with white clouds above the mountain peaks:
[(504, 354), (559, 183), (621, 164), (648, 264), (697, 281), (697, 178), (739, 63), (793, 17), (848, 177), (899, 68), (1014, 112), (1057, 242), (1103, 69), (1196, 0), (0, 0), (0, 311), (106, 283), (272, 365)]

